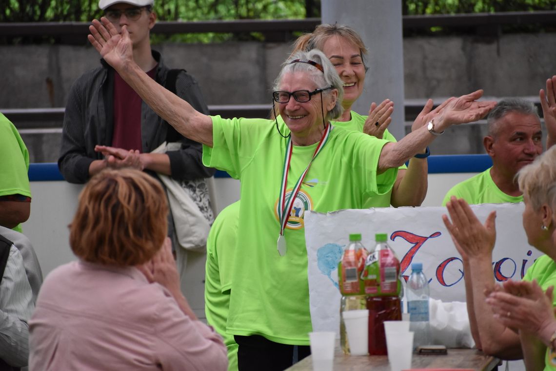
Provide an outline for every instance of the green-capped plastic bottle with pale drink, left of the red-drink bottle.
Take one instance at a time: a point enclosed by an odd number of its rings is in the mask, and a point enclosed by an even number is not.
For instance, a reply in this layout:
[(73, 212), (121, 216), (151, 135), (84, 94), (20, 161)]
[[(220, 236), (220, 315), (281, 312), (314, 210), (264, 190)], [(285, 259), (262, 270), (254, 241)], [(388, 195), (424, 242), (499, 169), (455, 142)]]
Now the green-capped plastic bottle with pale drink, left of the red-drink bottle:
[(345, 354), (350, 354), (350, 352), (342, 313), (346, 310), (366, 308), (361, 272), (369, 254), (365, 246), (361, 244), (361, 234), (350, 234), (349, 240), (350, 243), (344, 250), (342, 260), (338, 264), (338, 283), (342, 294), (340, 301), (340, 345)]

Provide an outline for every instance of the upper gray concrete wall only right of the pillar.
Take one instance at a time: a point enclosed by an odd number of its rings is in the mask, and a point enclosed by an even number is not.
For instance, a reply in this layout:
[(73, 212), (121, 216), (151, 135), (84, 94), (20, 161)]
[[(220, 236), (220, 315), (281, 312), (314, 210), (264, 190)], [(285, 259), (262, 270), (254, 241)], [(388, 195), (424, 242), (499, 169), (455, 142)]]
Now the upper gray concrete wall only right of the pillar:
[(405, 39), (405, 97), (538, 96), (556, 73), (554, 42), (555, 33)]

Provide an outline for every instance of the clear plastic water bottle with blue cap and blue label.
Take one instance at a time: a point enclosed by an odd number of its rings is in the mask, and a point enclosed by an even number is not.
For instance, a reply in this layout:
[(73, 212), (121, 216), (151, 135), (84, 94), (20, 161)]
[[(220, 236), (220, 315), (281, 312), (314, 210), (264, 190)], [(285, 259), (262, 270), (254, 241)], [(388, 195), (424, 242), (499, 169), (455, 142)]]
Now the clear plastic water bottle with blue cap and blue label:
[(413, 348), (430, 345), (429, 281), (423, 273), (423, 263), (411, 264), (411, 275), (406, 285), (409, 330), (414, 332)]

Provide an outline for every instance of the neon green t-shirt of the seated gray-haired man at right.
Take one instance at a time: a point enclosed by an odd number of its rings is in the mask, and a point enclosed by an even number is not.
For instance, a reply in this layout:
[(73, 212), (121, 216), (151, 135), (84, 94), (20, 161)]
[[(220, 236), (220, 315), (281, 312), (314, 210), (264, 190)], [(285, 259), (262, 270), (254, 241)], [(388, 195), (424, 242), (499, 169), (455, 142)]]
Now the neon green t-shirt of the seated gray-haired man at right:
[(453, 186), (444, 196), (442, 206), (446, 206), (451, 196), (464, 199), (470, 205), (522, 202), (523, 196), (510, 196), (498, 188), (490, 176), (490, 169), (492, 167)]

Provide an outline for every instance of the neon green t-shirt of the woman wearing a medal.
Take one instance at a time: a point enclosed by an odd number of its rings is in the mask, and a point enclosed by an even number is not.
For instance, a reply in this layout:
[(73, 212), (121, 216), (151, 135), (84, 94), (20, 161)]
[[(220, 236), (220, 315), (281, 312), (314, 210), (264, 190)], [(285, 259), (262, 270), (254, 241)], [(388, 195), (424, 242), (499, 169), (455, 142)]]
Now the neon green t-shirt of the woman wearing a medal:
[[(271, 120), (214, 116), (212, 124), (214, 147), (203, 146), (203, 164), (226, 170), (241, 180), (227, 332), (309, 345), (304, 211), (361, 209), (369, 198), (391, 189), (398, 169), (387, 170), (382, 183), (376, 176), (380, 151), (388, 141), (332, 129), (296, 196), (284, 231), (287, 253), (280, 256), (276, 247), (280, 233), (277, 201), (287, 138), (278, 133)], [(289, 133), (287, 128), (282, 132)], [(309, 164), (316, 146), (294, 146), (287, 192)]]

